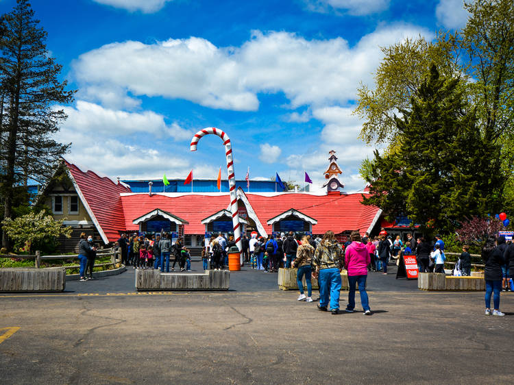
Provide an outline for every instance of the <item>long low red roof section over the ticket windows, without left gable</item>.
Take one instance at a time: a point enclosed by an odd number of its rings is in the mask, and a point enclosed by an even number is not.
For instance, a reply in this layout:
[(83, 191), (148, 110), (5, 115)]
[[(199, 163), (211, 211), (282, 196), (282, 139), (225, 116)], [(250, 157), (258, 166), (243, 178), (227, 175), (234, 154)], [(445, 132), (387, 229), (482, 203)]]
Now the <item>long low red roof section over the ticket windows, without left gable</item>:
[[(286, 193), (273, 197), (245, 195), (268, 234), (271, 234), (272, 226), (268, 225), (267, 221), (291, 208), (317, 220), (317, 224), (313, 225), (314, 234), (323, 234), (327, 230), (332, 230), (336, 234), (351, 230), (366, 232), (378, 212), (378, 208), (360, 203), (360, 193), (323, 196)], [(150, 197), (141, 193), (123, 196), (121, 201), (126, 230), (137, 230), (138, 225), (132, 224), (134, 219), (160, 208), (189, 222), (188, 225), (184, 225), (185, 234), (204, 234), (205, 225), (201, 220), (227, 208), (230, 196), (226, 194)]]

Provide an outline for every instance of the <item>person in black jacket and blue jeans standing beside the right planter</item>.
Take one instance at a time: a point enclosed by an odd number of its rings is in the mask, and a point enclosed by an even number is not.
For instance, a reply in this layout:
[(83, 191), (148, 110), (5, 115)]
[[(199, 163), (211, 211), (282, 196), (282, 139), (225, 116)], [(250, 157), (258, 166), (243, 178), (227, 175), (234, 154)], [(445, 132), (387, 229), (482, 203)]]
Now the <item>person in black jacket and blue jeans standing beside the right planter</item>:
[[(495, 243), (498, 246), (495, 247)], [(491, 315), (491, 293), (494, 292), (494, 316), (504, 316), (500, 312), (500, 290), (502, 288), (502, 264), (504, 264), (503, 254), (505, 252), (505, 237), (489, 236), (482, 248), (482, 260), (485, 262), (485, 315)]]

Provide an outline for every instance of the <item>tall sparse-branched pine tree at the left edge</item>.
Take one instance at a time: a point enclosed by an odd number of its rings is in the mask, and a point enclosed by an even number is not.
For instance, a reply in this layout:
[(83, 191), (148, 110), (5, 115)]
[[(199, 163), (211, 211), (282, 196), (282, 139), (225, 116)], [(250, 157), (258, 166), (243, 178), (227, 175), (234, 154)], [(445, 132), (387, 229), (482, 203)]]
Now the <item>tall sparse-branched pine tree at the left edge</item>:
[[(38, 27), (27, 0), (17, 0), (0, 18), (0, 173), (3, 216), (12, 216), (14, 189), (27, 179), (45, 182), (69, 146), (53, 137), (66, 119), (58, 103), (73, 101), (74, 91), (58, 76), (62, 66), (49, 57), (47, 32)], [(2, 245), (8, 245), (3, 234)]]

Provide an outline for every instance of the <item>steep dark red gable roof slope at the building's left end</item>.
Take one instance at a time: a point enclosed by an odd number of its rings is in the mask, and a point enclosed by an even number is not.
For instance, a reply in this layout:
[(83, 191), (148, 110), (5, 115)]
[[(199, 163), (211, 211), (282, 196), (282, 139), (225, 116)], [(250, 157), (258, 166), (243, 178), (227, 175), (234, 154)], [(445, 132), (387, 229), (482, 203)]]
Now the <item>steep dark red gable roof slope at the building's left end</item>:
[(103, 242), (114, 242), (119, 238), (119, 230), (125, 227), (121, 206), (122, 192), (131, 192), (121, 183), (114, 183), (108, 177), (100, 177), (93, 171), (82, 171), (75, 164), (64, 160), (71, 179), (86, 206), (88, 214), (97, 226)]

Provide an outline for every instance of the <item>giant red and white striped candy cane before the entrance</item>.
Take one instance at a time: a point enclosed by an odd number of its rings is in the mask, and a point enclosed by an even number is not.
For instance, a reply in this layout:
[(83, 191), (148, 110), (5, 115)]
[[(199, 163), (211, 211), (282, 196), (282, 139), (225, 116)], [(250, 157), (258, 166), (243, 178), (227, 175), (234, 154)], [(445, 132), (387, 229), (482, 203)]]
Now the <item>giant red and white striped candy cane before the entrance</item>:
[(201, 137), (208, 134), (217, 135), (223, 140), (225, 146), (225, 156), (227, 158), (227, 170), (228, 170), (228, 186), (230, 186), (230, 212), (232, 212), (232, 226), (234, 227), (234, 239), (239, 251), (243, 250), (241, 245), (241, 224), (239, 223), (239, 214), (237, 207), (237, 196), (236, 196), (236, 177), (234, 176), (234, 158), (232, 157), (232, 145), (230, 144), (230, 138), (225, 132), (219, 128), (208, 127), (201, 129), (193, 136), (191, 140), (191, 151), (196, 151), (196, 147)]

